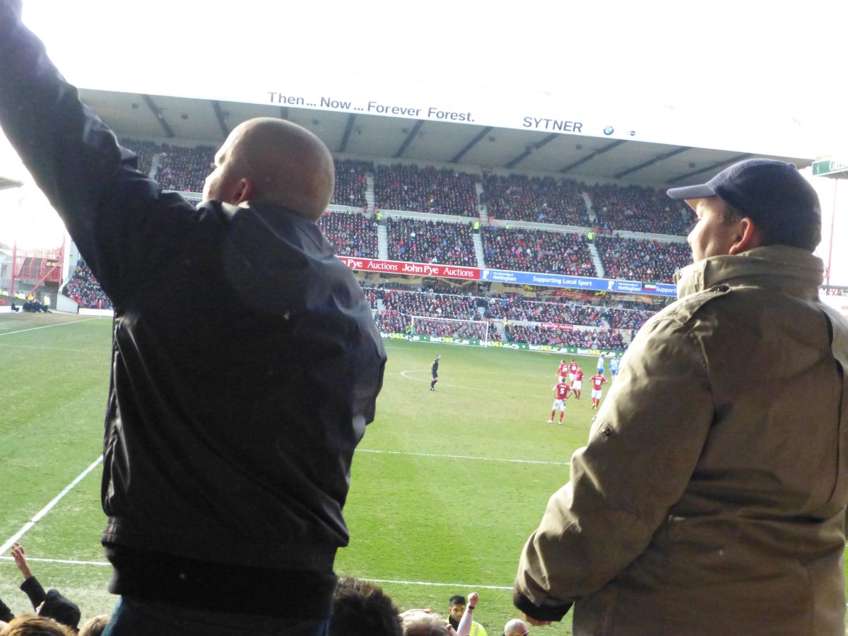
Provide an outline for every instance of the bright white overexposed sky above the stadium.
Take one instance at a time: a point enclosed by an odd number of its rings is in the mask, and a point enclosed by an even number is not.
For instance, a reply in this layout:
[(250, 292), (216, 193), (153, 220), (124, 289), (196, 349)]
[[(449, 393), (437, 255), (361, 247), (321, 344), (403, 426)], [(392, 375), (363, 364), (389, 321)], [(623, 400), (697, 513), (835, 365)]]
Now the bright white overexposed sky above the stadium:
[[(842, 157), (846, 19), (845, 0), (24, 0), (25, 22), (80, 86), (215, 96), (321, 81), (516, 102), (543, 92), (625, 112), (670, 109), (705, 129), (741, 122), (762, 148), (788, 143), (773, 122), (791, 121), (817, 154)], [(16, 163), (0, 140), (0, 174), (28, 181)], [(52, 213), (26, 190), (15, 223), (18, 194), (0, 192), (0, 243), (16, 225), (21, 244), (43, 235), (58, 245)]]

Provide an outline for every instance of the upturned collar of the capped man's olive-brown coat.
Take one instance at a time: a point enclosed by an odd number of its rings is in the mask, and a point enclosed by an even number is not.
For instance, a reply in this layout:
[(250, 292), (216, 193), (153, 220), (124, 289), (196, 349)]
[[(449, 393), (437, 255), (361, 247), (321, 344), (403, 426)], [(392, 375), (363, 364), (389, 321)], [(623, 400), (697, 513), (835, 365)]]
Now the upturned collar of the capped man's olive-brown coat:
[(734, 256), (711, 256), (687, 265), (674, 274), (674, 282), (678, 298), (722, 283), (738, 284), (740, 279), (764, 287), (790, 288), (816, 298), (823, 271), (822, 259), (805, 249), (770, 245)]

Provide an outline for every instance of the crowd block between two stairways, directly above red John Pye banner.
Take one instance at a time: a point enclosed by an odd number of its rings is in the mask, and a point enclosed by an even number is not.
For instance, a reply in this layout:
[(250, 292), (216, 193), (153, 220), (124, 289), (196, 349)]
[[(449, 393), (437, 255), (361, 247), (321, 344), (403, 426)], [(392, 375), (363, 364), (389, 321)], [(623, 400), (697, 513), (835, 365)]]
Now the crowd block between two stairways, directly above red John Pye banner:
[(477, 266), (471, 224), (389, 217), (386, 229), (391, 260)]

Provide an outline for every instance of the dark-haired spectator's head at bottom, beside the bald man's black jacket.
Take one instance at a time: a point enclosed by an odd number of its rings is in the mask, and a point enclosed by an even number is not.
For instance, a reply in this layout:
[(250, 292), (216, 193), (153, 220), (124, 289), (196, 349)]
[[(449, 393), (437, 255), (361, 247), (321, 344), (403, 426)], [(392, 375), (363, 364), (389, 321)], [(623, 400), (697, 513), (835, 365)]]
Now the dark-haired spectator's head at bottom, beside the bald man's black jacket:
[(354, 577), (338, 580), (328, 636), (401, 636), (398, 608), (377, 585)]

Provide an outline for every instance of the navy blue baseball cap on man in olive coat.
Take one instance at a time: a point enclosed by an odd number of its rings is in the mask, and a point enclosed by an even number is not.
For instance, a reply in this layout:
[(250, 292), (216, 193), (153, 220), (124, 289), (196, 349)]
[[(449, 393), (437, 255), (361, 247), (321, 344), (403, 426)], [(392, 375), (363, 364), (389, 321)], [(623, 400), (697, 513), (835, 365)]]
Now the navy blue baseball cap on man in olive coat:
[(768, 243), (812, 252), (822, 235), (818, 195), (792, 164), (775, 159), (745, 159), (698, 186), (672, 187), (668, 196), (692, 200), (718, 197), (750, 217)]

